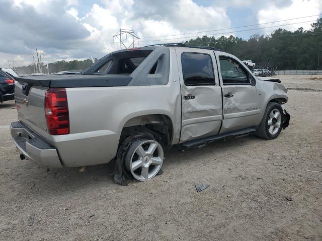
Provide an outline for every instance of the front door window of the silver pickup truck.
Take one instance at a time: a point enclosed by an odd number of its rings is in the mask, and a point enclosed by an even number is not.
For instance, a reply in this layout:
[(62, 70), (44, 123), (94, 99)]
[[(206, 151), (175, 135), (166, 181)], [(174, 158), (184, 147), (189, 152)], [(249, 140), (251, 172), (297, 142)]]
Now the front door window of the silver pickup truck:
[(235, 60), (219, 56), (220, 73), (224, 85), (250, 84), (247, 71)]

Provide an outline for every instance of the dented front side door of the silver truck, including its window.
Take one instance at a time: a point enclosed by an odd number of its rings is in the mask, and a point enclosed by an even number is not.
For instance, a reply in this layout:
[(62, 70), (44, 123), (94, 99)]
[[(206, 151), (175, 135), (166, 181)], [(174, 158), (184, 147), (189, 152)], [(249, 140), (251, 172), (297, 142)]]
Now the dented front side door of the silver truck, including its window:
[(220, 134), (259, 125), (263, 96), (256, 80), (234, 56), (216, 52), (223, 95), (223, 121)]

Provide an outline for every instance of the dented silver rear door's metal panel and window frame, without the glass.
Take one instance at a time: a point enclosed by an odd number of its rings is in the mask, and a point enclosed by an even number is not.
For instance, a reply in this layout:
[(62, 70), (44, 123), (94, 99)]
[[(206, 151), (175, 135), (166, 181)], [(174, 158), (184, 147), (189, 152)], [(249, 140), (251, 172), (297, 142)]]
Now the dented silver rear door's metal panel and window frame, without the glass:
[[(215, 74), (214, 85), (185, 85), (181, 67), (181, 54), (191, 52), (206, 53), (211, 56), (213, 71)], [(200, 49), (193, 49), (192, 51), (190, 48), (176, 48), (176, 53), (182, 102), (182, 129), (180, 143), (218, 134), (222, 121), (222, 98), (213, 51)]]

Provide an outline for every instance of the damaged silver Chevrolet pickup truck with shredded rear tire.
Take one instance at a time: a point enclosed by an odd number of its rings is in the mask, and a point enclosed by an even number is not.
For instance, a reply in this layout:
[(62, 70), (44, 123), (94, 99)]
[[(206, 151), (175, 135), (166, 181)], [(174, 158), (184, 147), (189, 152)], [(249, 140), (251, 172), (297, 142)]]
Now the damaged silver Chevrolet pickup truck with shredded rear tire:
[(82, 74), (17, 77), (11, 135), (22, 160), (63, 168), (116, 159), (116, 182), (145, 181), (159, 173), (166, 146), (277, 138), (289, 124), (286, 92), (220, 50), (120, 50)]

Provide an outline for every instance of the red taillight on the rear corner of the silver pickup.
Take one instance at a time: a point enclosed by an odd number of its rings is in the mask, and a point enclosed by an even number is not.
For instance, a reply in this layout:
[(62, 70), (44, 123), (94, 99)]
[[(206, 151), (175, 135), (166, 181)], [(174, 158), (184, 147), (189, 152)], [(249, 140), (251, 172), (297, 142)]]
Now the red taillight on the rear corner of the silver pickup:
[(69, 113), (65, 88), (47, 89), (45, 115), (50, 135), (69, 134)]

